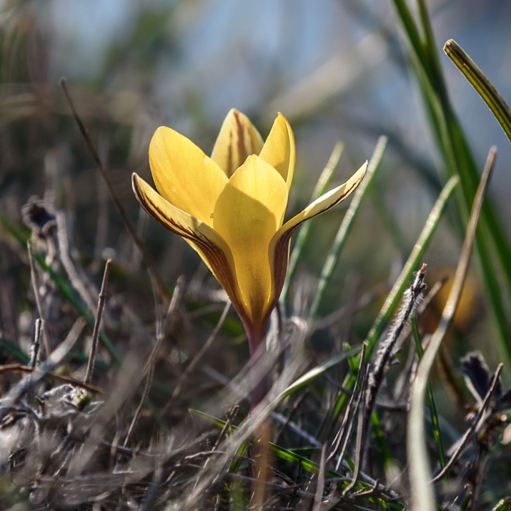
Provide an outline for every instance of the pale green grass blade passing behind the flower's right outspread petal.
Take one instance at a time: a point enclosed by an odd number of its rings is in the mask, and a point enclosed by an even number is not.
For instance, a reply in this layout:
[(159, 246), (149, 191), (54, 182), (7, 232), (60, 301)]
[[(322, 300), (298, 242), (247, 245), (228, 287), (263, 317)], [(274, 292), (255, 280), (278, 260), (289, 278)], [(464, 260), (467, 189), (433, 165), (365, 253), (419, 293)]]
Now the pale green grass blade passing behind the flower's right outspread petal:
[[(328, 159), (327, 165), (321, 172), (321, 175), (319, 176), (316, 186), (314, 187), (314, 191), (312, 192), (310, 202), (313, 202), (321, 195), (323, 195), (323, 193), (326, 192), (327, 187), (330, 184), (330, 181), (332, 180), (332, 177), (334, 175), (334, 171), (339, 163), (339, 159), (341, 158), (343, 149), (344, 144), (342, 144), (342, 142), (337, 142), (337, 144), (334, 146), (332, 154)], [(298, 234), (296, 235), (296, 242), (294, 244), (291, 256), (289, 258), (287, 278), (286, 281), (284, 282), (284, 287), (282, 288), (280, 298), (282, 304), (285, 304), (287, 301), (289, 286), (293, 278), (293, 275), (296, 271), (296, 266), (300, 259), (301, 252), (304, 249), (307, 239), (309, 238), (311, 225), (312, 225), (311, 222), (304, 222), (298, 229)]]

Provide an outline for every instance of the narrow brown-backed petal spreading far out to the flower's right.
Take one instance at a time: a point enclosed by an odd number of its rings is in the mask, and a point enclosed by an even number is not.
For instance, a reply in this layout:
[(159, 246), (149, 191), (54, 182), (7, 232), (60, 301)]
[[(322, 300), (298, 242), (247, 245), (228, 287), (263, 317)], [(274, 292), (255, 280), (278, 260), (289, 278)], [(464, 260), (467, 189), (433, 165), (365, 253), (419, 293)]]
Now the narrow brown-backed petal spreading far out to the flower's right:
[(330, 192), (321, 195), (314, 202), (309, 204), (305, 210), (288, 220), (280, 229), (277, 230), (270, 243), (270, 263), (272, 265), (272, 274), (274, 286), (276, 289), (276, 298), (282, 290), (286, 278), (286, 270), (289, 256), (289, 240), (294, 230), (306, 220), (313, 218), (321, 213), (330, 210), (332, 207), (350, 196), (358, 187), (364, 178), (367, 170), (367, 161), (360, 167), (353, 176), (344, 184), (334, 188)]

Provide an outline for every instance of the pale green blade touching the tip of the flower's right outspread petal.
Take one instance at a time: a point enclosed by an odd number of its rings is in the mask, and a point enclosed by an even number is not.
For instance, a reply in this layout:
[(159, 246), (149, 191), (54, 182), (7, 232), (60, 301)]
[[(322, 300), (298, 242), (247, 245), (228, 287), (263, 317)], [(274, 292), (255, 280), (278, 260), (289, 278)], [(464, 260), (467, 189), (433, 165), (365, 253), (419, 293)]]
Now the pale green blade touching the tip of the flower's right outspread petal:
[(330, 249), (330, 253), (328, 254), (327, 260), (323, 265), (323, 269), (321, 270), (321, 276), (319, 277), (318, 285), (316, 288), (316, 294), (314, 295), (314, 299), (312, 301), (312, 305), (309, 312), (309, 326), (312, 326), (312, 323), (314, 322), (319, 306), (323, 299), (324, 293), (327, 290), (335, 266), (337, 264), (337, 261), (339, 260), (341, 250), (344, 247), (344, 243), (346, 242), (347, 236), (350, 234), (353, 222), (359, 210), (362, 199), (365, 197), (367, 191), (370, 190), (370, 185), (371, 183), (373, 183), (374, 177), (378, 169), (380, 168), (386, 144), (387, 137), (381, 136), (378, 139), (376, 148), (369, 160), (369, 165), (367, 166), (365, 177), (363, 181), (359, 184), (357, 191), (355, 192), (355, 195), (351, 201), (350, 207), (348, 208), (346, 214), (344, 215), (344, 218), (342, 219), (339, 230), (337, 231), (337, 235), (335, 236), (334, 243), (332, 244), (332, 248)]

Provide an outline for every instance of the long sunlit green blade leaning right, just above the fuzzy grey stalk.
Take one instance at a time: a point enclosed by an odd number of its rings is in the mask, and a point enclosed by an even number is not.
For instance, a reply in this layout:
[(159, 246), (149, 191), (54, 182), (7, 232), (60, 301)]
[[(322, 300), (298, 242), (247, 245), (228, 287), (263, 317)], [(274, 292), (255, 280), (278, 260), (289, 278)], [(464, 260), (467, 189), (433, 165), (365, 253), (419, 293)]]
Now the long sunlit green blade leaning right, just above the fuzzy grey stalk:
[[(380, 310), (380, 313), (378, 314), (373, 326), (369, 330), (369, 333), (367, 334), (366, 337), (367, 359), (370, 358), (378, 342), (378, 339), (383, 334), (383, 331), (387, 327), (394, 311), (396, 311), (396, 308), (398, 307), (401, 301), (401, 297), (403, 296), (403, 292), (405, 291), (405, 289), (408, 286), (408, 283), (411, 280), (413, 271), (421, 263), (424, 251), (428, 247), (433, 237), (433, 234), (435, 233), (435, 230), (440, 222), (440, 219), (442, 219), (442, 215), (445, 211), (447, 201), (449, 200), (454, 189), (456, 188), (458, 181), (459, 181), (458, 177), (451, 177), (451, 179), (449, 179), (444, 189), (442, 190), (442, 193), (440, 193), (440, 195), (438, 196), (438, 199), (436, 200), (433, 209), (429, 214), (429, 217), (419, 236), (419, 239), (417, 239), (417, 242), (415, 243), (415, 246), (413, 247), (408, 257), (408, 260), (406, 261), (403, 269), (401, 270), (398, 280), (390, 290), (390, 293), (388, 294), (385, 303), (383, 304), (383, 307)], [(355, 384), (355, 381), (356, 374), (350, 372), (350, 374), (347, 375), (346, 379), (344, 380), (343, 384), (344, 388), (351, 390), (353, 388), (353, 385)], [(322, 425), (321, 431), (319, 433), (320, 439), (325, 440), (326, 438), (329, 437), (331, 429), (333, 425), (336, 424), (339, 415), (346, 406), (346, 403), (347, 403), (346, 394), (343, 392), (339, 392), (332, 409), (329, 411), (326, 420)]]

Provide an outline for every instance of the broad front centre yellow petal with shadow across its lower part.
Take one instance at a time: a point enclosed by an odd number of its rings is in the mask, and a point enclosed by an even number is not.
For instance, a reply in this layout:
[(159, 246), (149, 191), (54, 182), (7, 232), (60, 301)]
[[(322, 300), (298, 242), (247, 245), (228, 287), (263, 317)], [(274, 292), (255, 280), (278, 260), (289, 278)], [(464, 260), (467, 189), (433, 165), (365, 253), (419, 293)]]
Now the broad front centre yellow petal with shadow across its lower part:
[(287, 198), (282, 176), (253, 155), (229, 179), (215, 206), (213, 226), (233, 253), (240, 294), (252, 324), (264, 319), (273, 300), (268, 249)]

